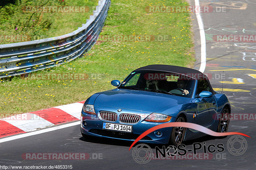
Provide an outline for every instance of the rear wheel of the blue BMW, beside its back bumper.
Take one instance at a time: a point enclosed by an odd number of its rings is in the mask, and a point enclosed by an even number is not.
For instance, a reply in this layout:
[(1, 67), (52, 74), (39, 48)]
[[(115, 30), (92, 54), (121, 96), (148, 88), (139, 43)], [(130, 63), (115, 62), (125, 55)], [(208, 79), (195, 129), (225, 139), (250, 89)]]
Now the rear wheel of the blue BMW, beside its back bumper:
[(223, 133), (223, 132), (227, 132), (228, 131), (228, 125), (229, 125), (229, 119), (228, 116), (229, 115), (229, 110), (228, 107), (224, 107), (224, 109), (221, 112), (220, 115), (220, 121), (218, 124), (218, 128), (217, 128), (217, 132), (219, 133)]

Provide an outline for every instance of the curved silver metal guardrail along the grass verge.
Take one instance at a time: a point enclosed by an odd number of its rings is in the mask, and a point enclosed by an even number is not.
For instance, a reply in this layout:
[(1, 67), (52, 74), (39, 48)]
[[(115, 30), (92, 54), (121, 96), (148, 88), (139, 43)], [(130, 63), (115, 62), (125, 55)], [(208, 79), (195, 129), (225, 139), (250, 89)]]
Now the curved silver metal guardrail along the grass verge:
[(110, 0), (100, 0), (86, 24), (72, 33), (0, 45), (0, 78), (51, 68), (89, 51), (104, 25), (110, 3)]

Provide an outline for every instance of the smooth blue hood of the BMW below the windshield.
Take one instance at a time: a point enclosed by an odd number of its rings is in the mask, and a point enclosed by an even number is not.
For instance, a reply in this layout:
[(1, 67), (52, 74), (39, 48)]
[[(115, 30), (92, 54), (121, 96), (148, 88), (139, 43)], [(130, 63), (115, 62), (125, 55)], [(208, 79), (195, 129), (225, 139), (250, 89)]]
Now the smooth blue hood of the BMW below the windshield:
[(113, 89), (101, 93), (94, 105), (155, 112), (190, 98), (130, 89)]

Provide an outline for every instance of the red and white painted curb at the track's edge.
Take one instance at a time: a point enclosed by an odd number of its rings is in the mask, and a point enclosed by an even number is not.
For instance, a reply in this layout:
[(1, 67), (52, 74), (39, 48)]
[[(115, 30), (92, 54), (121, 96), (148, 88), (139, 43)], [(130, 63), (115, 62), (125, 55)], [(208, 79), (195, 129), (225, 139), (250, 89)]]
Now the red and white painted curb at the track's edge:
[(79, 121), (84, 101), (0, 119), (0, 138)]

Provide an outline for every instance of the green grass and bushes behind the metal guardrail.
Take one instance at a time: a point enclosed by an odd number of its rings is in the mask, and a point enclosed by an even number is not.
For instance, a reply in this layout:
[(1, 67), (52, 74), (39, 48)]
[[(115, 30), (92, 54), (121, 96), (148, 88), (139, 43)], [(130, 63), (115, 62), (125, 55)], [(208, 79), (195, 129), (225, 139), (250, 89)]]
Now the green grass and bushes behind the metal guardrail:
[[(26, 35), (28, 40), (38, 40), (71, 33), (92, 15), (89, 12), (24, 12), (24, 6), (96, 6), (98, 0), (17, 0), (0, 8), (1, 35)], [(0, 36), (0, 44), (19, 42)]]

